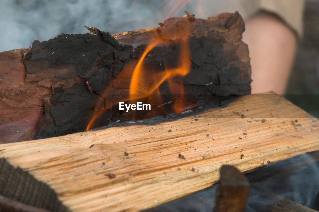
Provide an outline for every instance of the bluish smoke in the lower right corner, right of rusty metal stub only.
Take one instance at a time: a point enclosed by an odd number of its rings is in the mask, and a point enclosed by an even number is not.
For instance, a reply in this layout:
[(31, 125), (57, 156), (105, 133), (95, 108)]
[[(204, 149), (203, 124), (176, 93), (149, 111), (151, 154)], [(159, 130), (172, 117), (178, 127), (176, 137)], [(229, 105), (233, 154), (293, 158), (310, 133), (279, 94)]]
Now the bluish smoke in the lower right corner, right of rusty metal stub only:
[[(307, 207), (312, 207), (318, 201), (319, 164), (308, 154), (270, 164), (265, 167), (265, 170), (278, 170), (278, 172), (282, 170), (282, 176), (253, 183), (253, 186), (278, 194)], [(285, 174), (287, 171), (291, 173)], [(254, 193), (254, 191), (256, 192), (256, 190), (252, 190), (251, 193)], [(250, 194), (250, 197), (253, 195)], [(249, 198), (247, 203), (248, 205), (259, 204), (265, 207), (269, 204), (269, 201)]]

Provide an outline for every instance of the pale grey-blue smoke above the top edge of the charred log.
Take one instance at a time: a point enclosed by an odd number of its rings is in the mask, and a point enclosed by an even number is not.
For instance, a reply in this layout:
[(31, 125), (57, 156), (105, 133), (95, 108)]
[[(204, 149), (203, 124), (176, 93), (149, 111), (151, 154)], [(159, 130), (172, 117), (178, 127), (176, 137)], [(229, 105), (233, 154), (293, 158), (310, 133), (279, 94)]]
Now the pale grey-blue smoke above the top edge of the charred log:
[(184, 10), (207, 18), (238, 10), (232, 0), (1, 0), (0, 52), (28, 48), (33, 40), (48, 40), (60, 33), (86, 33), (84, 25), (109, 33), (158, 26), (159, 21), (185, 15)]

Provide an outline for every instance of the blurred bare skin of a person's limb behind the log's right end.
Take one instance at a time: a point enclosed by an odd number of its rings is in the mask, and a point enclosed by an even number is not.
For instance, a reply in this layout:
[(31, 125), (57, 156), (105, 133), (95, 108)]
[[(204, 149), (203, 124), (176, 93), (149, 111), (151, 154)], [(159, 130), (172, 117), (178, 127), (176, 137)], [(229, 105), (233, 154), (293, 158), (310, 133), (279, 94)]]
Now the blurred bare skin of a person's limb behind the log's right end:
[(285, 94), (297, 49), (296, 34), (276, 15), (259, 12), (245, 23), (251, 59), (251, 93)]

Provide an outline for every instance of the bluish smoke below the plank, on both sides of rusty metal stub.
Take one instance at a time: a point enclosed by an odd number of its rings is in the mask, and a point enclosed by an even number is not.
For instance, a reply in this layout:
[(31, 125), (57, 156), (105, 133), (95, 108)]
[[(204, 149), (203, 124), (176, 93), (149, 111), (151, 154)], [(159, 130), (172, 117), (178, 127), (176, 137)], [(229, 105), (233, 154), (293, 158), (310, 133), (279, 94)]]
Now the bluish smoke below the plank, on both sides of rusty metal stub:
[[(268, 211), (267, 209), (272, 204), (278, 203), (277, 199), (271, 199), (272, 196), (265, 192), (280, 195), (309, 208), (316, 210), (319, 208), (319, 163), (310, 155), (303, 154), (278, 161), (261, 168), (258, 172), (263, 173), (263, 176), (258, 175), (258, 179), (263, 180), (251, 182), (246, 212)], [(216, 184), (203, 191), (161, 204), (144, 212), (211, 212), (215, 207), (218, 186)]]

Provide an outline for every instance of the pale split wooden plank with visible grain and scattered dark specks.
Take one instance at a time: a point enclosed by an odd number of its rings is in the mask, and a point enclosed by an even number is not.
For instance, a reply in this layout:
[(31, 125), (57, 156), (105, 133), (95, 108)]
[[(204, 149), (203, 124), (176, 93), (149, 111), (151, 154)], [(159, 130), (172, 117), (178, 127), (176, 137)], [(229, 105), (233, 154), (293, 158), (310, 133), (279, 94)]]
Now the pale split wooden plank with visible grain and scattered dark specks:
[(211, 186), (222, 164), (246, 172), (318, 150), (318, 123), (268, 93), (239, 97), (196, 118), (1, 144), (0, 150), (73, 211), (138, 211)]

